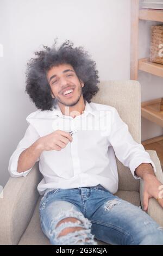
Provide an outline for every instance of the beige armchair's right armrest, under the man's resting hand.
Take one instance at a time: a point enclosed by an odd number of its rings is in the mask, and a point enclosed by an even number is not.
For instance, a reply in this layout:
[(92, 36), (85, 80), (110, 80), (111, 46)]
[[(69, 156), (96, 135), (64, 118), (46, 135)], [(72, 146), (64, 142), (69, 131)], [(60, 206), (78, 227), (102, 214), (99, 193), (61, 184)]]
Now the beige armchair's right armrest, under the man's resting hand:
[[(155, 150), (146, 150), (152, 161), (155, 164), (156, 168), (156, 178), (163, 184), (163, 173), (162, 173), (162, 168), (160, 164), (159, 157), (156, 154)], [(141, 200), (141, 205), (143, 205), (143, 180), (140, 180), (140, 200)], [(150, 198), (149, 199), (149, 204), (148, 204), (148, 210), (147, 213), (161, 226), (163, 226), (163, 208), (160, 206), (160, 204), (157, 202), (155, 198)]]

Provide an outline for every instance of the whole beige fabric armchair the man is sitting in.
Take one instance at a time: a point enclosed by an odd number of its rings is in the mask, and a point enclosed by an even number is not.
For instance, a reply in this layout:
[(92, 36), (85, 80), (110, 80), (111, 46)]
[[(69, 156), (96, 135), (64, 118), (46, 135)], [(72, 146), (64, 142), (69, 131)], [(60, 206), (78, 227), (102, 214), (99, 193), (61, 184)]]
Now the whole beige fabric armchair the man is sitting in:
[[(100, 84), (100, 90), (92, 102), (114, 106), (136, 142), (141, 143), (141, 87), (137, 81), (108, 81)], [(156, 176), (163, 184), (160, 161), (154, 150), (147, 150), (155, 163)], [(117, 196), (140, 206), (143, 181), (136, 180), (128, 167), (117, 161), (119, 185)], [(0, 198), (0, 244), (1, 245), (49, 245), (39, 221), (40, 196), (37, 192), (42, 176), (38, 162), (30, 173), (20, 178), (9, 178)], [(163, 209), (158, 202), (149, 200), (148, 214), (163, 226)], [(136, 216), (135, 216), (136, 217)], [(106, 245), (98, 241), (99, 245)]]

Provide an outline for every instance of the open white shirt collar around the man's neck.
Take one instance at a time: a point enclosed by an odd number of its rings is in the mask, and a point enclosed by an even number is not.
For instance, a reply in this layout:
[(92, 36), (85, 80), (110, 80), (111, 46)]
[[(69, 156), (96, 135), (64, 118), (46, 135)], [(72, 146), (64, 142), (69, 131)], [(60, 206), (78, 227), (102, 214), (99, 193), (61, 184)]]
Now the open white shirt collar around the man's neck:
[[(78, 117), (85, 117), (87, 114), (92, 114), (95, 116), (95, 111), (93, 111), (93, 108), (91, 107), (90, 103), (88, 103), (87, 101), (85, 101), (85, 109), (84, 109), (84, 112), (83, 114), (80, 114), (80, 115), (77, 115), (77, 118)], [(60, 110), (60, 107), (58, 105), (58, 103), (56, 103), (55, 105), (55, 108), (53, 109), (53, 115), (56, 115), (58, 117), (62, 117), (62, 118), (72, 118), (68, 115), (64, 115), (62, 114), (61, 110)], [(73, 118), (72, 118), (73, 119)]]

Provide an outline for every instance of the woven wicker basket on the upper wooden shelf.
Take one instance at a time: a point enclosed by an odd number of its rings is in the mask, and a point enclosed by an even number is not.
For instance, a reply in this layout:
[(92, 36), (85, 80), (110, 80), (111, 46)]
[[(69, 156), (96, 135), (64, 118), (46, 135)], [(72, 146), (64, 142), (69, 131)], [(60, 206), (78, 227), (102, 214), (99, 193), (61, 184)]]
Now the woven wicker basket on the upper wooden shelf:
[(150, 48), (150, 61), (163, 64), (163, 25), (151, 26), (152, 41)]

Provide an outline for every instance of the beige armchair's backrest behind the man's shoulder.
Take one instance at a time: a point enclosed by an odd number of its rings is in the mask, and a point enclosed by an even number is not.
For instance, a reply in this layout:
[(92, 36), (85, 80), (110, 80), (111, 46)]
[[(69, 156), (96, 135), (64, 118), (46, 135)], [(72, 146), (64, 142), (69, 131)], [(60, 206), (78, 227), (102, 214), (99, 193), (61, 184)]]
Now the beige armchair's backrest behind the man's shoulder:
[[(92, 102), (115, 107), (129, 132), (137, 143), (141, 143), (141, 87), (137, 81), (103, 81)], [(128, 167), (116, 157), (118, 169), (118, 190), (139, 191), (140, 180), (133, 178)]]

